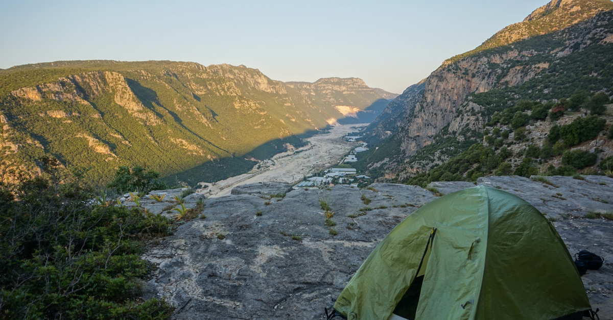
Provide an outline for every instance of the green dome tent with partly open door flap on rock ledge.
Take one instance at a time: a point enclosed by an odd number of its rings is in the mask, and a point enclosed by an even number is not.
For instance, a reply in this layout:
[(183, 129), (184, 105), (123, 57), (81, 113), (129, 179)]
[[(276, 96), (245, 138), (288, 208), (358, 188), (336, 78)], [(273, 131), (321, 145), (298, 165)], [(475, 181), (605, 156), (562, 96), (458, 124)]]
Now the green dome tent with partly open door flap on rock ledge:
[(349, 320), (581, 319), (573, 258), (535, 207), (478, 186), (426, 204), (368, 256), (334, 304)]

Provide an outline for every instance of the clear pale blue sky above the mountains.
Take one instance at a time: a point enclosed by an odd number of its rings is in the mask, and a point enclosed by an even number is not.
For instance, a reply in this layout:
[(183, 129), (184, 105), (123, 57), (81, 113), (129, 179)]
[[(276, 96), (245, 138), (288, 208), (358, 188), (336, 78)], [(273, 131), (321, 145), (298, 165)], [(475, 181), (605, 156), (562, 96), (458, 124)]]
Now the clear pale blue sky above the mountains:
[(401, 93), (547, 0), (0, 0), (0, 68), (59, 60), (244, 64)]

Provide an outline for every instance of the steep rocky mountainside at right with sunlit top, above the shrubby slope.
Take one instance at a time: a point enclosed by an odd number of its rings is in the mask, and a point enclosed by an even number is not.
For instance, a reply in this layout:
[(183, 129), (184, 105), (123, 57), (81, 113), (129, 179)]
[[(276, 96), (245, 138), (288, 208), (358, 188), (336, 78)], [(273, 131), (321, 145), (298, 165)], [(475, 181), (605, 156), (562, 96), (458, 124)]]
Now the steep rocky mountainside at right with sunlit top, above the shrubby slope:
[[(573, 70), (573, 65), (581, 61), (608, 61), (603, 46), (608, 45), (606, 39), (613, 34), (612, 8), (610, 1), (552, 1), (522, 23), (498, 32), (476, 50), (444, 62), (425, 79), (422, 94), (411, 94), (411, 99), (403, 94), (392, 101), (375, 121), (377, 127), (365, 130), (373, 141), (388, 136), (389, 141), (402, 141), (403, 155), (387, 166), (390, 175), (402, 171), (398, 163), (409, 160), (435, 142), (436, 137), (478, 140), (493, 107), (487, 101), (470, 101), (479, 94), (504, 92), (508, 96), (504, 103), (509, 105), (524, 97), (568, 98), (577, 89), (570, 88), (576, 76), (565, 74), (565, 69)], [(598, 55), (600, 58), (595, 58)], [(610, 85), (600, 75), (606, 67), (596, 65), (591, 64), (592, 79), (588, 80), (595, 85), (588, 90), (609, 92)], [(558, 78), (549, 80), (554, 77)], [(549, 83), (536, 84), (543, 78)], [(519, 92), (525, 92), (525, 96)], [(395, 110), (405, 111), (403, 117), (387, 120), (385, 117)]]

